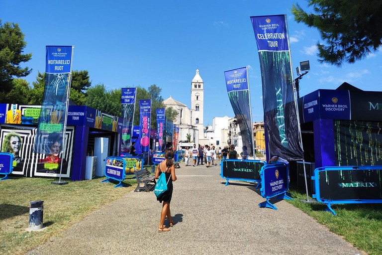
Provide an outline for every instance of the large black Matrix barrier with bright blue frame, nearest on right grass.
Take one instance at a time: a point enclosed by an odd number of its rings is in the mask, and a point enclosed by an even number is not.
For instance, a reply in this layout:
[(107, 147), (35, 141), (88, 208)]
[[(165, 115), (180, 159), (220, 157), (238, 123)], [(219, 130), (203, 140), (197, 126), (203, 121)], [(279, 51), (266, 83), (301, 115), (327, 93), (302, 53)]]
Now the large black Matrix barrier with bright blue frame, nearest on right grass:
[(314, 169), (315, 198), (336, 215), (333, 204), (382, 203), (382, 166), (327, 166)]

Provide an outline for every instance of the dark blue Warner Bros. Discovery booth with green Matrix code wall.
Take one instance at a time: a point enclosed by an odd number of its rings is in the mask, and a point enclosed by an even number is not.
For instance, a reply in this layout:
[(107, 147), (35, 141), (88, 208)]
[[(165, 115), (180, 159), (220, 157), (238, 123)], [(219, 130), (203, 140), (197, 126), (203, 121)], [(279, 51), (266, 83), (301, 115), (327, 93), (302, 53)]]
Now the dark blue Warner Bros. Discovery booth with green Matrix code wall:
[[(316, 168), (382, 165), (382, 92), (343, 83), (299, 98), (298, 110), (310, 192)], [(297, 185), (304, 188), (302, 162), (294, 171), (291, 176), (296, 174)]]

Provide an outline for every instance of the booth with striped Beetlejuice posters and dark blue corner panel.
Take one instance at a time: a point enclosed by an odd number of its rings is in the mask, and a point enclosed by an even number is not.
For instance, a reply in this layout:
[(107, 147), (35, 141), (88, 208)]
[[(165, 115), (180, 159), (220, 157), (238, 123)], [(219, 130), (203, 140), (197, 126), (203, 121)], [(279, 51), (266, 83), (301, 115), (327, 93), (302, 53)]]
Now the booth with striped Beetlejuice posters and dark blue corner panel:
[[(63, 153), (54, 158), (49, 153), (34, 153), (39, 118), (50, 122), (65, 118), (62, 111), (41, 113), (41, 106), (0, 104), (0, 144), (12, 147), (9, 136), (17, 137), (12, 174), (26, 177), (58, 177), (84, 180), (104, 175), (107, 156), (119, 155), (122, 120), (87, 106), (68, 106)], [(8, 135), (9, 134), (9, 135)], [(8, 136), (7, 136), (8, 135)], [(57, 149), (57, 148), (56, 148)], [(6, 150), (6, 149), (4, 149)], [(2, 149), (3, 151), (3, 149)], [(87, 177), (88, 176), (88, 177)]]

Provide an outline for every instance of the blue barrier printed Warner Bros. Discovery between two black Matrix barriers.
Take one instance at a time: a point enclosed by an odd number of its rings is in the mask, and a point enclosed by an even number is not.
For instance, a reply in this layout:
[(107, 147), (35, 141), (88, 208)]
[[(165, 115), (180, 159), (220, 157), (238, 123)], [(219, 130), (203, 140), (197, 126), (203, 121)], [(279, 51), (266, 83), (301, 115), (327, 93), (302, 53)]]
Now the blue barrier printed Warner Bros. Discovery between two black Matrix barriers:
[(269, 199), (276, 197), (278, 199), (292, 200), (286, 194), (289, 189), (289, 167), (284, 163), (264, 165), (260, 171), (261, 176), (261, 196), (267, 201), (260, 203), (259, 207), (267, 207), (277, 210), (277, 207), (269, 202)]

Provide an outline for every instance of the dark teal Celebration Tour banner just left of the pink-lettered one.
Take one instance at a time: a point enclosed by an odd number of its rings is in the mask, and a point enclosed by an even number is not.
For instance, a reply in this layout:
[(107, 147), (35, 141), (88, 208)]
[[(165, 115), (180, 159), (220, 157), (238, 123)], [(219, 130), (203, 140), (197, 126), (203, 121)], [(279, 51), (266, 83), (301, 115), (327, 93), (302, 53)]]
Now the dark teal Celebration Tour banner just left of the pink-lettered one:
[(131, 134), (133, 131), (136, 88), (121, 89), (122, 104), (122, 142), (120, 152), (122, 154), (130, 152)]

